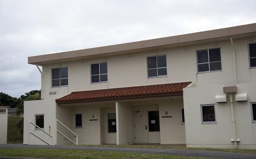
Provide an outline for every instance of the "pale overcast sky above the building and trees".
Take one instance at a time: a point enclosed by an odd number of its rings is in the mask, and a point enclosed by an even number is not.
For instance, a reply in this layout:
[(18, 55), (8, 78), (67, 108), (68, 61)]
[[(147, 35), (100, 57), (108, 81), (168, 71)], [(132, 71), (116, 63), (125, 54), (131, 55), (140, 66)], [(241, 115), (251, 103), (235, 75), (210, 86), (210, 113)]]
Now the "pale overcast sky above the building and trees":
[(0, 0), (0, 92), (40, 89), (28, 56), (256, 22), (256, 0)]

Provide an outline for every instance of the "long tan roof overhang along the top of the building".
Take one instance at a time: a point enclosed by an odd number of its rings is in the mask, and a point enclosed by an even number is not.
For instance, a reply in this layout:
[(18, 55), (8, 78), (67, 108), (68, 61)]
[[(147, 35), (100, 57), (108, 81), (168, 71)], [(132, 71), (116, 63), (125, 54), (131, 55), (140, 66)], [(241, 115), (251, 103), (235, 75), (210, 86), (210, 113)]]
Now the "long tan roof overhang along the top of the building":
[(94, 57), (113, 56), (118, 54), (135, 53), (142, 51), (154, 51), (170, 47), (188, 46), (193, 44), (224, 41), (230, 37), (233, 39), (256, 36), (256, 23), (234, 26), (211, 31), (202, 31), (179, 36), (169, 36), (145, 41), (136, 41), (118, 45), (95, 47), (90, 49), (59, 52), (40, 56), (28, 57), (28, 63), (42, 66), (43, 64), (83, 60)]

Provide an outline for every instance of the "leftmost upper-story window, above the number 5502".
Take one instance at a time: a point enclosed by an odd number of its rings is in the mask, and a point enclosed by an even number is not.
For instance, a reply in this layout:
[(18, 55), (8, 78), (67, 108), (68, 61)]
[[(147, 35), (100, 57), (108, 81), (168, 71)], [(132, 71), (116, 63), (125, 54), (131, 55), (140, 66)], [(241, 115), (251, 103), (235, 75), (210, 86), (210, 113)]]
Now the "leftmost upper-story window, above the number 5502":
[(69, 84), (68, 67), (52, 69), (52, 87), (66, 86)]

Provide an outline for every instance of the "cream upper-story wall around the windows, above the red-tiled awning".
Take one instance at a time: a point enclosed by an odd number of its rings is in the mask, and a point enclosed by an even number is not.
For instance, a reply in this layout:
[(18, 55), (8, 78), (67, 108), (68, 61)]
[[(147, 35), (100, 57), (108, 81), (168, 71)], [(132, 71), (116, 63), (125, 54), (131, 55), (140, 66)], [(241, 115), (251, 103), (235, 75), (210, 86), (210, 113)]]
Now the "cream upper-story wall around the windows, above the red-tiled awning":
[[(234, 39), (239, 83), (256, 81), (256, 69), (249, 69), (247, 47), (247, 44), (251, 42), (250, 40), (254, 38)], [(222, 71), (197, 73), (196, 51), (218, 47), (221, 48)], [(147, 78), (147, 56), (163, 54), (166, 54), (167, 59), (167, 77)], [(107, 62), (107, 83), (91, 84), (90, 64), (95, 62)], [(51, 69), (56, 67), (68, 67), (69, 86), (51, 87)], [(43, 65), (43, 94), (45, 99), (63, 97), (73, 91), (187, 81), (195, 82), (197, 87), (234, 85), (233, 56), (230, 41), (216, 41), (164, 50)], [(49, 92), (55, 91), (57, 95), (49, 95)]]

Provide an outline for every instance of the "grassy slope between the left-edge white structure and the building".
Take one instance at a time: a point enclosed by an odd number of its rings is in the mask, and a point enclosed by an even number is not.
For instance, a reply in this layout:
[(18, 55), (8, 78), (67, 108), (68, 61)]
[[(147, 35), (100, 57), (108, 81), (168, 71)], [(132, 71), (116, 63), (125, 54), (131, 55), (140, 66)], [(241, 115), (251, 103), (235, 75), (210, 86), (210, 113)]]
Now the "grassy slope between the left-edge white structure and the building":
[(17, 123), (22, 117), (8, 117), (7, 144), (22, 144), (23, 136), (19, 133)]

